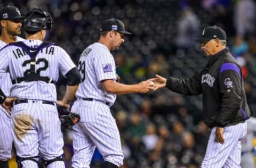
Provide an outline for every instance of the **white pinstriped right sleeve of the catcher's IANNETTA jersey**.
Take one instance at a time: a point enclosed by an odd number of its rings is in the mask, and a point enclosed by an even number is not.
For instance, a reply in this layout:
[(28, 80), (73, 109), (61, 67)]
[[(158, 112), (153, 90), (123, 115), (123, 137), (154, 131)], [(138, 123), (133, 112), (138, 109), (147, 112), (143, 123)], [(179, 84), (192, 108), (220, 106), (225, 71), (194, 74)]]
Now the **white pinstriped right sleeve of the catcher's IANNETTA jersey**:
[(70, 56), (64, 49), (62, 49), (61, 47), (59, 47), (59, 49), (60, 49), (59, 69), (61, 74), (65, 76), (67, 72), (75, 68), (76, 65), (74, 64), (74, 62), (71, 60)]

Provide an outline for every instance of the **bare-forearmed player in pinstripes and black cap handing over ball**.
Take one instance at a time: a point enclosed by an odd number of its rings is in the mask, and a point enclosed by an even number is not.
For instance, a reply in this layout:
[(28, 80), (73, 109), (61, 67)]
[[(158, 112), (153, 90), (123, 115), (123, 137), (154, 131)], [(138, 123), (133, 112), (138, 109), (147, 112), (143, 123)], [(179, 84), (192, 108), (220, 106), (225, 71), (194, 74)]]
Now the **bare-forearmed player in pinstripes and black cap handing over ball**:
[(82, 83), (76, 93), (71, 111), (81, 115), (81, 122), (73, 127), (74, 156), (72, 166), (90, 167), (95, 147), (103, 155), (103, 167), (119, 167), (123, 164), (123, 152), (119, 131), (109, 107), (116, 94), (147, 93), (154, 84), (142, 81), (136, 85), (116, 82), (115, 61), (110, 51), (124, 43), (125, 31), (122, 21), (109, 19), (102, 23), (98, 43), (87, 47), (79, 60), (78, 70)]

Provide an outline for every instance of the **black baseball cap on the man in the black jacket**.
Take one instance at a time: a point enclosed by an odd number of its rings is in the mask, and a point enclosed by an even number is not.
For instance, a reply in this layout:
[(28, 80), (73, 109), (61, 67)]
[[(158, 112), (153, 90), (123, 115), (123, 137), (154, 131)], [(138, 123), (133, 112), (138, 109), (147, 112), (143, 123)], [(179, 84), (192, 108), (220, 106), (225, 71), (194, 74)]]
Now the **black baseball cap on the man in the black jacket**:
[(227, 40), (226, 32), (218, 26), (209, 26), (203, 30), (201, 37), (195, 40), (202, 43), (215, 38)]

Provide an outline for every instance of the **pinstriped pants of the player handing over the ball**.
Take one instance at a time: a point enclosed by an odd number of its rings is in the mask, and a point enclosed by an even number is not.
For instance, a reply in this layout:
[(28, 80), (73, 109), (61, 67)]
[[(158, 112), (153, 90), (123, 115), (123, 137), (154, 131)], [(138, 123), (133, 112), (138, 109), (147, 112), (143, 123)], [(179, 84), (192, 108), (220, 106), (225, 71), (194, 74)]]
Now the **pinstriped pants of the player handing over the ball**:
[(109, 107), (102, 102), (77, 99), (71, 112), (81, 115), (73, 127), (72, 166), (89, 168), (95, 147), (105, 161), (121, 166), (124, 155), (120, 135)]

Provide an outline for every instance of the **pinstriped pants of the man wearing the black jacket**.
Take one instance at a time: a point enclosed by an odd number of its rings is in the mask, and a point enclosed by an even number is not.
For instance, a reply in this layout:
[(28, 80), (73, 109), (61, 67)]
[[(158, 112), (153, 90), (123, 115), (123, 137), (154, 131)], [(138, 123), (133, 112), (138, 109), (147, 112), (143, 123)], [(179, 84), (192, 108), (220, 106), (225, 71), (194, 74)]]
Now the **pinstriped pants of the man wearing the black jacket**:
[(215, 140), (215, 132), (216, 127), (211, 131), (201, 168), (241, 167), (241, 139), (247, 132), (247, 122), (224, 127), (223, 145)]

